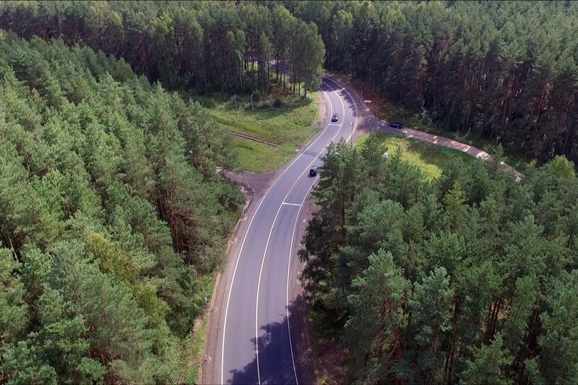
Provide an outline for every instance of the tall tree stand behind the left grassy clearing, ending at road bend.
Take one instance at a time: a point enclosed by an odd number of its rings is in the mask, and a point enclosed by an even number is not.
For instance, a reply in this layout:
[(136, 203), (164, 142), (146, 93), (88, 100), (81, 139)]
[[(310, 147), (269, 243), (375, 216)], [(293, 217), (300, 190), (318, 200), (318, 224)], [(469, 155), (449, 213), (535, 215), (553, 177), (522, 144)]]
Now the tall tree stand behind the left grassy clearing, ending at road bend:
[(316, 26), (258, 3), (1, 1), (0, 28), (90, 46), (171, 90), (263, 94), (273, 71), (293, 93), (315, 90), (325, 55)]

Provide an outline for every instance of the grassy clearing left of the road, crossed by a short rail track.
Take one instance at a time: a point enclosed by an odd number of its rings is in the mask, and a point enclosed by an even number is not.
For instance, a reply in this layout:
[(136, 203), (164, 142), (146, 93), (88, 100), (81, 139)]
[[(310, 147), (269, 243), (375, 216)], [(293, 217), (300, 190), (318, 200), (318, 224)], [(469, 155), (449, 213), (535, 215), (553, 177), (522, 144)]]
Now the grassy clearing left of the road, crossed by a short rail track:
[(278, 148), (270, 148), (235, 140), (241, 166), (255, 173), (273, 171), (284, 165), (295, 150), (320, 129), (317, 93), (310, 93), (307, 98), (253, 96), (253, 106), (248, 96), (213, 95), (195, 99), (209, 108), (211, 116), (224, 128), (280, 144)]

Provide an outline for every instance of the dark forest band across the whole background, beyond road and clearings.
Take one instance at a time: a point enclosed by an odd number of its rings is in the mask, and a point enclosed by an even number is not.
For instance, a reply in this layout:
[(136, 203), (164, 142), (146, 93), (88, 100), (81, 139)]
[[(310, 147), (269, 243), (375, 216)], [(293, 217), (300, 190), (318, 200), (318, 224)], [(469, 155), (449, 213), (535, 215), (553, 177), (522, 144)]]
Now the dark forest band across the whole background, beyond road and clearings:
[(0, 2), (0, 28), (91, 46), (169, 89), (263, 94), (274, 78), (306, 93), (325, 64), (544, 161), (578, 160), (577, 20), (574, 1)]

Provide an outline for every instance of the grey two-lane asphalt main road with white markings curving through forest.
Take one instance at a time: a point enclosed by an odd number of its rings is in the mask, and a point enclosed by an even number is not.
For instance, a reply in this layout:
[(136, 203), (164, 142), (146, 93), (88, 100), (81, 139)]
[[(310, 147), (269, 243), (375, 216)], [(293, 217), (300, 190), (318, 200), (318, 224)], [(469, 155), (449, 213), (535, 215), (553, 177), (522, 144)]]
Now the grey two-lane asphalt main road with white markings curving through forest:
[[(328, 143), (350, 139), (358, 118), (355, 104), (337, 83), (324, 78), (321, 91), (327, 111), (325, 128), (255, 202), (238, 240), (233, 274), (224, 282), (228, 286), (219, 322), (216, 359), (220, 358), (222, 384), (299, 383), (290, 305), (299, 269), (296, 235), (298, 227), (305, 225), (301, 208), (318, 179), (309, 176), (309, 169), (321, 165)], [(339, 114), (338, 122), (329, 121), (333, 113)]]

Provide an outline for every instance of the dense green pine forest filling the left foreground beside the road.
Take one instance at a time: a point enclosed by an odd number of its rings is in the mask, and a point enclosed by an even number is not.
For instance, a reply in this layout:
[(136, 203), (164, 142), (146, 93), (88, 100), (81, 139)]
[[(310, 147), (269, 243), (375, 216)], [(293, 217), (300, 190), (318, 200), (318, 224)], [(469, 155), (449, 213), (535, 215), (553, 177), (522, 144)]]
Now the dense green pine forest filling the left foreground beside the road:
[(244, 200), (230, 141), (122, 60), (0, 33), (0, 383), (183, 379)]

